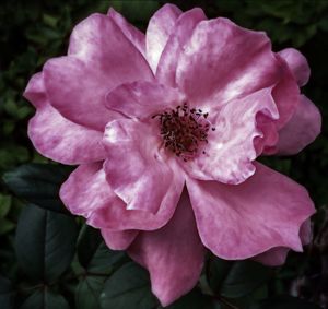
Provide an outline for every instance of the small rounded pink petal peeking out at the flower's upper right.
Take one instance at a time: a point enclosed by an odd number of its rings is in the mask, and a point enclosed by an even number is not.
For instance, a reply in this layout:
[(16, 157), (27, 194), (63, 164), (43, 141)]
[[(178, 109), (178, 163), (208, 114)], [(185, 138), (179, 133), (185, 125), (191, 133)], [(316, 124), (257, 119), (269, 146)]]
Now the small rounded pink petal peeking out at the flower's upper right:
[(308, 82), (311, 74), (306, 58), (294, 48), (285, 48), (278, 52), (278, 55), (286, 61), (297, 84), (304, 86)]

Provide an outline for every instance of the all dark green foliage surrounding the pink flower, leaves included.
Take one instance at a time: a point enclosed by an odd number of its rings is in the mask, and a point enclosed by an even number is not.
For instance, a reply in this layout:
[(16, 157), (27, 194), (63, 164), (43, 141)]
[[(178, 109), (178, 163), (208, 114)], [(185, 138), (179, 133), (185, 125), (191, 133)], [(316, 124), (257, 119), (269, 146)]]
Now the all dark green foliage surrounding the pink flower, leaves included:
[[(60, 210), (61, 205), (58, 206), (60, 202), (56, 201), (56, 194), (60, 181), (68, 174), (67, 168), (33, 165), (32, 167), (25, 166), (15, 174), (10, 171), (26, 163), (48, 163), (47, 159), (35, 153), (26, 135), (27, 120), (33, 116), (34, 110), (22, 98), (22, 93), (30, 76), (39, 71), (47, 59), (65, 55), (73, 25), (89, 14), (106, 12), (113, 5), (134, 25), (145, 29), (152, 13), (166, 2), (160, 0), (2, 0), (0, 2), (0, 175), (3, 176), (7, 173), (3, 179), (8, 182), (7, 185), (4, 181), (0, 183), (1, 308), (20, 308), (21, 306), (23, 309), (160, 308), (156, 302), (152, 302), (153, 300), (150, 300), (148, 305), (141, 302), (136, 305), (136, 297), (140, 296), (138, 293), (134, 296), (124, 294), (124, 301), (130, 302), (120, 302), (121, 300), (110, 296), (110, 293), (109, 296), (105, 294), (104, 300), (105, 282), (108, 290), (113, 292), (117, 288), (117, 285), (113, 287), (113, 278), (110, 281), (113, 273), (119, 287), (127, 290), (129, 287), (126, 287), (125, 284), (130, 280), (126, 275), (141, 272), (140, 277), (144, 276), (142, 277), (144, 282), (139, 282), (137, 285), (144, 286), (145, 284), (142, 295), (151, 298), (147, 286), (148, 277), (142, 270), (130, 264), (124, 253), (107, 250), (97, 231), (86, 228), (81, 219), (58, 214), (58, 210), (59, 212), (62, 210)], [(242, 26), (266, 31), (272, 39), (273, 50), (278, 51), (284, 47), (298, 48), (306, 56), (312, 68), (311, 81), (303, 92), (317, 104), (324, 119), (323, 134), (301, 154), (293, 157), (263, 158), (266, 164), (303, 183), (316, 203), (318, 211), (313, 219), (314, 240), (306, 248), (305, 253), (291, 253), (288, 263), (282, 268), (274, 269), (273, 274), (271, 274), (271, 270), (269, 274), (268, 270), (253, 264), (245, 266), (239, 263), (236, 266), (210, 257), (208, 268), (204, 270), (204, 277), (207, 277), (206, 274), (210, 275), (203, 280), (204, 283), (201, 284), (201, 287), (202, 292), (209, 292), (207, 294), (211, 294), (211, 297), (202, 296), (197, 289), (172, 308), (316, 308), (307, 302), (295, 302), (294, 299), (281, 297), (286, 294), (328, 308), (328, 190), (326, 182), (328, 166), (326, 126), (328, 116), (326, 104), (328, 97), (326, 61), (328, 55), (328, 1), (189, 0), (171, 2), (179, 5), (183, 10), (201, 7), (209, 17), (227, 16)], [(48, 175), (48, 178), (45, 175)], [(22, 182), (22, 179), (25, 182)], [(48, 183), (49, 179), (52, 181), (50, 185)], [(30, 195), (26, 195), (26, 192)], [(43, 194), (48, 199), (46, 202), (45, 197), (40, 202)], [(55, 201), (54, 205), (49, 203), (49, 197), (52, 202)], [(26, 201), (37, 205), (28, 206), (30, 213), (26, 212)], [(51, 209), (50, 204), (52, 211), (47, 210)], [(27, 224), (25, 226), (20, 224), (16, 229), (20, 215), (24, 216)], [(42, 263), (46, 259), (36, 252), (38, 249), (34, 248), (35, 243), (45, 246), (49, 243), (45, 242), (47, 239), (42, 230), (38, 230), (39, 238), (34, 238), (38, 234), (33, 233), (36, 233), (35, 224), (37, 222), (40, 225), (48, 224), (45, 215), (47, 218), (54, 216), (54, 222), (59, 222), (60, 226), (68, 226), (65, 231), (70, 231), (71, 240), (68, 240), (66, 249), (61, 248), (60, 250), (63, 250), (61, 253), (70, 258), (63, 263), (62, 269), (54, 270), (54, 265), (48, 265), (49, 269), (47, 269), (45, 264), (43, 273), (37, 275), (39, 270), (33, 265), (37, 264), (37, 258)], [(56, 237), (59, 239), (67, 237), (67, 235), (60, 236), (59, 231), (56, 231), (56, 226), (55, 231), (54, 227), (49, 228), (54, 233), (55, 240)], [(28, 242), (28, 233), (32, 235), (31, 243)], [(77, 241), (78, 234), (80, 236)], [(75, 243), (78, 245), (75, 246)], [(26, 268), (26, 261), (22, 261), (22, 257), (28, 255), (26, 246), (30, 245), (32, 246), (32, 249), (30, 248), (32, 257), (36, 255), (32, 262), (30, 261), (32, 265)], [(83, 247), (90, 250), (83, 252), (81, 249)], [(94, 264), (90, 265), (90, 263)], [(58, 264), (56, 257), (54, 264)], [(50, 272), (50, 275), (47, 271)], [(32, 272), (32, 275), (28, 276), (28, 272)], [(93, 272), (96, 274), (94, 275)], [(229, 289), (231, 287), (232, 290)], [(85, 297), (85, 295), (93, 296)], [(114, 298), (116, 302), (113, 302)], [(263, 299), (271, 300), (263, 302)]]

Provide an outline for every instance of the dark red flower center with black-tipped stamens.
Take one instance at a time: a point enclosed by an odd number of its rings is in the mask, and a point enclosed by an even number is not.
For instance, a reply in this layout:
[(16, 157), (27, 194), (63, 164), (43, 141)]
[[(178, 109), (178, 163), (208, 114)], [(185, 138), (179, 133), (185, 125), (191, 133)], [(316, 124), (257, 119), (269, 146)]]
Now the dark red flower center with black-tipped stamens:
[[(207, 119), (208, 116), (209, 114), (201, 109), (190, 109), (185, 103), (175, 109), (154, 115), (152, 118), (160, 119), (164, 146), (187, 162), (208, 143), (210, 129), (215, 131)], [(202, 153), (206, 154), (204, 151)]]

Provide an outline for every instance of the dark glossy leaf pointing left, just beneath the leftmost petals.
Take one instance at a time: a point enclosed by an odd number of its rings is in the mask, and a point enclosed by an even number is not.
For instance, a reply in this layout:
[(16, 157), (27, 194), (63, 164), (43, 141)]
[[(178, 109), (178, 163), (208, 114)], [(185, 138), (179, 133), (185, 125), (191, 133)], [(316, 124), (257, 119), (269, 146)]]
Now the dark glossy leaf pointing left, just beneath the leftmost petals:
[(70, 167), (52, 164), (25, 164), (4, 174), (3, 180), (17, 197), (43, 209), (69, 213), (59, 199), (61, 183)]

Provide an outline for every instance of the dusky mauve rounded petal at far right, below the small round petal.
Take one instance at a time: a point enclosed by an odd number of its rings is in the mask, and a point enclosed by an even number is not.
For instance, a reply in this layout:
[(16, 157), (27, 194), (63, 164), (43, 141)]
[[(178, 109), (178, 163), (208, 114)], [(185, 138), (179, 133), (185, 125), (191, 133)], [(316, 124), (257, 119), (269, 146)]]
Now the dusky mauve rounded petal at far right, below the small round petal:
[(292, 119), (279, 131), (276, 152), (281, 155), (296, 154), (311, 144), (320, 131), (320, 111), (302, 95)]

